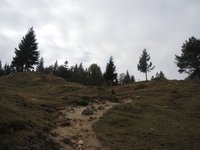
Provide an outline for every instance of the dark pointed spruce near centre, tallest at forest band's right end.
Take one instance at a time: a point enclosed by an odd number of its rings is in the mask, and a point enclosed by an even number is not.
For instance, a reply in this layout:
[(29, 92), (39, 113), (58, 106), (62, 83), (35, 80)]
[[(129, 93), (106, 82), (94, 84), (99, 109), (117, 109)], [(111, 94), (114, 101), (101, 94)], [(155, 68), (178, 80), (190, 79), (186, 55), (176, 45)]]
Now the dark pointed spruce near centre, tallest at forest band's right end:
[(106, 66), (106, 72), (104, 73), (104, 79), (107, 84), (113, 85), (117, 80), (116, 66), (114, 65), (113, 57), (111, 56)]

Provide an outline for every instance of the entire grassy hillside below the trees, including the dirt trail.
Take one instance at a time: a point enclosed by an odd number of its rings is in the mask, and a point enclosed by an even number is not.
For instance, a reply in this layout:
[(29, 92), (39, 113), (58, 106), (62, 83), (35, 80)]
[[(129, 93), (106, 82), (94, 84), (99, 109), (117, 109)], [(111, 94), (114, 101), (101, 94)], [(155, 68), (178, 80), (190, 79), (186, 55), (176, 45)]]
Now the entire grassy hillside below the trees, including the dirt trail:
[[(3, 150), (70, 150), (80, 141), (88, 150), (200, 149), (197, 81), (106, 88), (16, 73), (1, 77), (0, 87)], [(84, 116), (88, 105), (94, 114)]]

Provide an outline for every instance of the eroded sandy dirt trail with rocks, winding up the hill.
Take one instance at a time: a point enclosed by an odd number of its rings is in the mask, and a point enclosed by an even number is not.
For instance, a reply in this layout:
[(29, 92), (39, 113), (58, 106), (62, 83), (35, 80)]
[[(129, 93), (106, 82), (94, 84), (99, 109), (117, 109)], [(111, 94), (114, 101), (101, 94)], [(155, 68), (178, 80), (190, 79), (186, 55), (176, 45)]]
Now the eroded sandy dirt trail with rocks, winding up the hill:
[[(63, 150), (107, 150), (99, 142), (92, 129), (92, 125), (99, 117), (118, 103), (94, 103), (85, 107), (68, 107), (61, 112), (57, 128), (52, 130), (54, 139), (58, 141)], [(92, 109), (92, 115), (82, 115), (86, 108)]]

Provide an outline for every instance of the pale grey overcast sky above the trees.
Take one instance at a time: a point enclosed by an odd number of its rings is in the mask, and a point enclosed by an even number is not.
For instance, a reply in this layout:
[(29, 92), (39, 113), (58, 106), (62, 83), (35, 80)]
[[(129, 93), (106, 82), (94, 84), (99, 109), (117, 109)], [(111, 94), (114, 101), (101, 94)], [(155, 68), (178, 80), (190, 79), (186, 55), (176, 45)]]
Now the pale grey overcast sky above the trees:
[(137, 80), (144, 48), (155, 75), (183, 79), (174, 56), (191, 36), (200, 38), (199, 0), (0, 0), (0, 60), (10, 63), (14, 48), (33, 26), (45, 65), (92, 63), (105, 70), (114, 57), (117, 72)]

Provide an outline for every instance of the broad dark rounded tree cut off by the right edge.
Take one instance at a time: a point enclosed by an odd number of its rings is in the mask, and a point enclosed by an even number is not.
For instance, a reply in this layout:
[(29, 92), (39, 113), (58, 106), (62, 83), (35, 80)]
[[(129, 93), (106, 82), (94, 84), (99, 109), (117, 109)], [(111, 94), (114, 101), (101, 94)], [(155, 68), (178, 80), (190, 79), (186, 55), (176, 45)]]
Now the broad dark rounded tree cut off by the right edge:
[(182, 46), (181, 56), (175, 55), (180, 73), (189, 74), (190, 79), (200, 79), (200, 39), (189, 38)]

